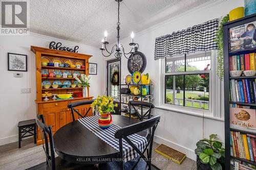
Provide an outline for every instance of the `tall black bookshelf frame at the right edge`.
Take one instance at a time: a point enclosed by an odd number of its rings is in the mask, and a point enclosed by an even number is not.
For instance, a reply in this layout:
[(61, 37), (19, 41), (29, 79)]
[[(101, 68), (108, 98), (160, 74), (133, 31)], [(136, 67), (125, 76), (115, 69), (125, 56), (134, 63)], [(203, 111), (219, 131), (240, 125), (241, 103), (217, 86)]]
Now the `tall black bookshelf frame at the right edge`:
[[(227, 22), (223, 26), (223, 52), (224, 52), (224, 107), (225, 107), (225, 169), (231, 169), (231, 160), (236, 160), (240, 162), (244, 162), (250, 165), (256, 166), (255, 161), (251, 161), (248, 159), (241, 158), (240, 156), (231, 156), (231, 149), (232, 147), (232, 142), (230, 142), (230, 133), (240, 133), (240, 134), (250, 134), (250, 135), (256, 135), (255, 131), (253, 130), (241, 130), (238, 128), (233, 128), (230, 127), (230, 104), (231, 105), (240, 105), (242, 107), (256, 107), (256, 102), (255, 103), (246, 103), (246, 102), (241, 102), (239, 99), (238, 101), (233, 101), (232, 95), (230, 94), (230, 88), (232, 91), (232, 85), (230, 85), (230, 81), (242, 81), (243, 79), (248, 79), (248, 81), (256, 79), (256, 76), (250, 76), (250, 77), (245, 77), (243, 74), (241, 77), (230, 77), (229, 76), (229, 70), (230, 70), (230, 57), (232, 56), (241, 56), (245, 54), (250, 54), (250, 53), (256, 53), (256, 47), (251, 47), (248, 49), (242, 49), (242, 50), (236, 50), (236, 51), (231, 51), (230, 52), (230, 36), (229, 36), (229, 31), (231, 28), (237, 27), (244, 25), (249, 22), (254, 22), (256, 21), (256, 14), (249, 15), (246, 17), (243, 17), (241, 19), (237, 19), (231, 22)], [(256, 54), (255, 54), (256, 55)], [(255, 56), (256, 57), (256, 56)], [(231, 69), (232, 70), (232, 69)], [(250, 79), (250, 80), (249, 80)], [(239, 87), (239, 86), (238, 86)], [(242, 89), (241, 89), (242, 90)], [(240, 93), (242, 95), (242, 92)], [(240, 97), (240, 95), (239, 95)], [(256, 97), (256, 95), (254, 95)], [(231, 144), (230, 144), (231, 143)]]

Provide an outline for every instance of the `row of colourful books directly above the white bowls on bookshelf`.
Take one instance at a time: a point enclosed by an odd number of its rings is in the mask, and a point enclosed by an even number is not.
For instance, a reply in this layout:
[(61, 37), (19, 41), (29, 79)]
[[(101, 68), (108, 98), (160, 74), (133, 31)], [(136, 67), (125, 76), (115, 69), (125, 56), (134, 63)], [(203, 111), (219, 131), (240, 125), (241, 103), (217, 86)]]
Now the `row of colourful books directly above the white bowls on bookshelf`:
[(229, 57), (229, 70), (255, 70), (255, 53)]

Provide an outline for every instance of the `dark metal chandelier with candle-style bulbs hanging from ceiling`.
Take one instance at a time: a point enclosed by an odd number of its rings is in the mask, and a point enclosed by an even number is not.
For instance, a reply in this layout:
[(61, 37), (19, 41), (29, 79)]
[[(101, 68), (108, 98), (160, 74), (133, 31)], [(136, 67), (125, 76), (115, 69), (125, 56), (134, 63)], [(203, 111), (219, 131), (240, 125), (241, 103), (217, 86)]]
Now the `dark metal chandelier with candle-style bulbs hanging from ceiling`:
[[(107, 50), (106, 45), (109, 44), (109, 42), (106, 41), (106, 36), (108, 36), (108, 32), (106, 32), (106, 30), (105, 30), (105, 32), (104, 32), (104, 38), (101, 40), (101, 48), (99, 48), (99, 49), (101, 50), (101, 53), (102, 53), (102, 55), (103, 55), (104, 57), (109, 57), (109, 56), (111, 56), (111, 55), (115, 52), (114, 56), (115, 56), (117, 59), (120, 59), (121, 56), (122, 56), (122, 54), (124, 55), (125, 58), (130, 59), (130, 58), (127, 57), (126, 55), (131, 54), (131, 57), (132, 57), (132, 56), (133, 56), (133, 53), (138, 50), (139, 44), (133, 42), (134, 33), (132, 32), (132, 34), (131, 34), (132, 42), (129, 43), (129, 45), (132, 46), (131, 51), (130, 51), (129, 53), (125, 53), (125, 52), (124, 52), (124, 47), (123, 47), (123, 45), (120, 44), (120, 42), (119, 42), (119, 41), (120, 41), (120, 36), (119, 36), (119, 30), (120, 30), (120, 27), (119, 27), (119, 26), (120, 26), (120, 21), (119, 21), (119, 7), (120, 7), (120, 2), (122, 2), (122, 0), (115, 0), (115, 1), (118, 3), (118, 19), (117, 19), (117, 23), (116, 23), (116, 25), (117, 25), (117, 28), (116, 28), (116, 29), (117, 29), (117, 44), (115, 44), (115, 45), (112, 46), (111, 51)], [(106, 51), (106, 55), (103, 53), (103, 51)]]

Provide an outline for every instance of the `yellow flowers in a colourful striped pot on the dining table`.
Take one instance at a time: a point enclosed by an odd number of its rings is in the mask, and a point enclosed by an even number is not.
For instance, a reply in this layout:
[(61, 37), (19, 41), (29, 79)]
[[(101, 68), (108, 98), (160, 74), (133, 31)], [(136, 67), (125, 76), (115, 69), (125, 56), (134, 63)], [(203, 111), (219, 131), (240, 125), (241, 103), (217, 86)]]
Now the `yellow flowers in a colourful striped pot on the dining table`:
[(98, 124), (101, 129), (108, 129), (112, 125), (111, 113), (115, 113), (114, 107), (117, 107), (117, 103), (114, 104), (112, 96), (98, 96), (94, 100), (91, 107), (100, 113)]

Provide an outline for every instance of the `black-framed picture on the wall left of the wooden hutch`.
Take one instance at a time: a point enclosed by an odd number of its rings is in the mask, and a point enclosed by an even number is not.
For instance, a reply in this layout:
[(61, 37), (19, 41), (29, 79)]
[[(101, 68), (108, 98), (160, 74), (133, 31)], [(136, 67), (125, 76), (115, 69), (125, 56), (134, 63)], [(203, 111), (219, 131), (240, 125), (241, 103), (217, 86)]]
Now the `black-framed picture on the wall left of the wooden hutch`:
[(28, 71), (28, 56), (24, 54), (8, 53), (8, 70)]

